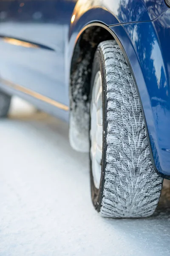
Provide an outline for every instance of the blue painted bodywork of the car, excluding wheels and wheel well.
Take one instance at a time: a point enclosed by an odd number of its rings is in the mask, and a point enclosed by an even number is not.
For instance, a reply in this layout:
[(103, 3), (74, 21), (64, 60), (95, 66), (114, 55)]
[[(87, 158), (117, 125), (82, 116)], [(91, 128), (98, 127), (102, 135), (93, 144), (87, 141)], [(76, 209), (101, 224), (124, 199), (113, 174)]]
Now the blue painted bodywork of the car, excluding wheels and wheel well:
[[(163, 0), (0, 0), (0, 21), (0, 87), (67, 121), (67, 111), (3, 81), (69, 105), (71, 58), (82, 29), (109, 26), (136, 79), (156, 169), (170, 176), (170, 9)], [(7, 44), (7, 37), (30, 47)]]

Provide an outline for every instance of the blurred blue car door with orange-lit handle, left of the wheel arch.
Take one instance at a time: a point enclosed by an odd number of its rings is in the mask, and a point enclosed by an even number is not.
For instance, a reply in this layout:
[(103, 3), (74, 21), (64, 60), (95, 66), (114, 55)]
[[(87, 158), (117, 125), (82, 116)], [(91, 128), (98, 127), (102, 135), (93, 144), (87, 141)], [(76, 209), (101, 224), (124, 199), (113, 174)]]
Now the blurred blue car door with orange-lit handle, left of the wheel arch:
[(0, 77), (68, 104), (65, 38), (76, 0), (0, 0)]

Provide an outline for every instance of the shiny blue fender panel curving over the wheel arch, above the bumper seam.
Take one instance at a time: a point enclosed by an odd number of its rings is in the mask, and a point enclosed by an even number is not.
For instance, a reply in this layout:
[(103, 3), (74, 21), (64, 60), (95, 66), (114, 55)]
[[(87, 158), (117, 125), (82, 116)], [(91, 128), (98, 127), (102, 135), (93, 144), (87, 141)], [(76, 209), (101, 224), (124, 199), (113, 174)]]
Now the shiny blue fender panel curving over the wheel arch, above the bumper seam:
[(89, 23), (106, 26), (154, 20), (167, 10), (164, 0), (78, 0), (71, 17), (68, 42), (65, 44), (66, 95), (75, 45)]

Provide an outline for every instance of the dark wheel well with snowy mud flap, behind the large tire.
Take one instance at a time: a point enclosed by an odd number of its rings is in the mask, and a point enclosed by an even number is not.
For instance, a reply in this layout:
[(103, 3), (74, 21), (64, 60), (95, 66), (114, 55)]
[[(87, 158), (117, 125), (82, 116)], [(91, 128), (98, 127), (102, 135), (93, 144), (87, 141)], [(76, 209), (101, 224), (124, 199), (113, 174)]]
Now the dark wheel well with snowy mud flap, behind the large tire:
[(113, 40), (101, 26), (90, 26), (80, 35), (71, 61), (70, 80), (70, 143), (77, 151), (89, 151), (90, 84), (96, 48), (100, 42)]

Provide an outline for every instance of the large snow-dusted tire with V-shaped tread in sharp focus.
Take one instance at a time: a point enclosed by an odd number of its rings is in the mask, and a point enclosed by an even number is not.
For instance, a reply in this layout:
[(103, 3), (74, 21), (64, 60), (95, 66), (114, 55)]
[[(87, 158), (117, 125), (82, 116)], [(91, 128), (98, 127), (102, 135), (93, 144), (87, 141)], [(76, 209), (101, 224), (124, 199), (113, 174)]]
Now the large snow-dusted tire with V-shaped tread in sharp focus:
[(150, 216), (159, 202), (163, 180), (153, 169), (139, 95), (116, 41), (99, 44), (91, 91), (98, 72), (102, 79), (103, 131), (99, 188), (95, 185), (90, 156), (94, 207), (104, 217)]

